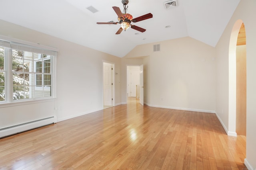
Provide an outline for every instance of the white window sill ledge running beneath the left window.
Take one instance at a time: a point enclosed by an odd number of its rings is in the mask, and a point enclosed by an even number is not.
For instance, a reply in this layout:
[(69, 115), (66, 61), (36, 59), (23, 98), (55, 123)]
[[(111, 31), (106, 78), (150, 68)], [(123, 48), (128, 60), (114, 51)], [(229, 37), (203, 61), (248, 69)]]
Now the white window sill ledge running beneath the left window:
[(12, 107), (12, 106), (20, 106), (20, 105), (28, 105), (28, 104), (35, 104), (35, 103), (42, 103), (42, 102), (52, 102), (55, 101), (56, 98), (49, 98), (49, 99), (32, 99), (26, 101), (14, 101), (12, 103), (2, 103), (0, 104), (0, 108), (2, 107)]

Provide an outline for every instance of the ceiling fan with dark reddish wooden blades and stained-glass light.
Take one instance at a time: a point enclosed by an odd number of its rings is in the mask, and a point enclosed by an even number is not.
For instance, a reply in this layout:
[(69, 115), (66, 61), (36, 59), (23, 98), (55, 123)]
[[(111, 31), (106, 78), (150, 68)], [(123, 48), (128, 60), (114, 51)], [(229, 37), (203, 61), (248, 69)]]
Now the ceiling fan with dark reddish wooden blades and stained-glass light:
[(146, 31), (146, 29), (144, 29), (144, 28), (138, 27), (136, 25), (131, 25), (131, 22), (138, 22), (138, 21), (147, 20), (149, 18), (152, 18), (153, 15), (151, 13), (148, 13), (148, 14), (145, 14), (143, 16), (132, 19), (132, 15), (126, 13), (127, 8), (128, 8), (128, 6), (126, 7), (126, 5), (128, 4), (128, 2), (129, 2), (128, 0), (122, 0), (122, 4), (124, 5), (123, 13), (121, 12), (119, 7), (117, 7), (117, 6), (112, 7), (114, 9), (114, 11), (116, 12), (117, 16), (118, 16), (118, 22), (114, 22), (114, 21), (97, 22), (97, 24), (117, 24), (117, 23), (120, 23), (121, 27), (118, 29), (116, 34), (120, 34), (123, 31), (123, 29), (125, 31), (130, 26), (131, 26), (132, 29), (136, 29), (137, 31), (140, 31), (140, 32)]

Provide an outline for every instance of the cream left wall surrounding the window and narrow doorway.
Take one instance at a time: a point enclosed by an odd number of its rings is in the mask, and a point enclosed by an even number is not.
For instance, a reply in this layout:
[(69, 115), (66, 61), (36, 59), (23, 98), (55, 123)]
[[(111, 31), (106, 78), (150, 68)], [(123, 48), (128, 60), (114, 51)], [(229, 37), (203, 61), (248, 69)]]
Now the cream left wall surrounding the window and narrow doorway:
[[(103, 109), (102, 61), (115, 64), (115, 105), (121, 104), (121, 59), (0, 20), (0, 35), (59, 49), (57, 98), (48, 102), (0, 107), (0, 128), (57, 115), (58, 121)], [(24, 111), (26, 108), (26, 112)]]

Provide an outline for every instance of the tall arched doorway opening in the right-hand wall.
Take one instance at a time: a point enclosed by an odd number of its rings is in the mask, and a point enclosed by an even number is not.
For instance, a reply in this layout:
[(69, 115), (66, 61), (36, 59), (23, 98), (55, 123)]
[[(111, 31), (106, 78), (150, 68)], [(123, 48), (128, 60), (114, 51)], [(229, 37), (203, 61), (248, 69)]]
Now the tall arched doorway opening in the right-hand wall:
[[(246, 134), (246, 77), (244, 80), (244, 77), (241, 79), (240, 72), (241, 70), (245, 70), (246, 75), (246, 40), (244, 37), (242, 38), (244, 40), (243, 43), (241, 43), (239, 32), (241, 29), (241, 26), (243, 26), (242, 20), (237, 20), (234, 24), (234, 27), (231, 32), (230, 36), (230, 45), (229, 45), (229, 99), (228, 99), (228, 131), (231, 136), (236, 136), (237, 134), (240, 135), (240, 130), (237, 131), (237, 129), (240, 129), (242, 126), (245, 128), (245, 134)], [(243, 28), (245, 30), (245, 27)], [(239, 36), (238, 36), (239, 35)], [(244, 31), (245, 35), (245, 31)], [(243, 48), (240, 48), (238, 46)], [(237, 48), (238, 47), (238, 48)], [(240, 55), (240, 57), (237, 58), (237, 54)], [(241, 57), (242, 56), (242, 57)], [(245, 57), (245, 58), (244, 58)], [(240, 60), (242, 58), (242, 66)], [(237, 67), (238, 65), (238, 67)], [(244, 68), (245, 65), (245, 68)], [(239, 75), (238, 75), (239, 74)], [(244, 73), (242, 74), (244, 75)], [(240, 82), (243, 82), (241, 85)], [(242, 98), (241, 98), (242, 96)], [(245, 96), (245, 98), (244, 98)], [(244, 111), (245, 109), (245, 111)], [(243, 110), (243, 113), (238, 113), (237, 111), (241, 112)], [(241, 117), (245, 119), (245, 121), (241, 121)], [(240, 127), (239, 127), (240, 126)], [(238, 132), (238, 133), (237, 133)], [(245, 135), (244, 134), (244, 135)]]

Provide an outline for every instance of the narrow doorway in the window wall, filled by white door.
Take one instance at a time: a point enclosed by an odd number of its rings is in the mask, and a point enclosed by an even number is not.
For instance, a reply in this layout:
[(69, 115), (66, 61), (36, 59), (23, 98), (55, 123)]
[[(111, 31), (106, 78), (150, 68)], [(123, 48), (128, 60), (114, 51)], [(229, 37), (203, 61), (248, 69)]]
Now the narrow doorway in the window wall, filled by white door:
[(103, 108), (114, 106), (114, 64), (103, 62)]

